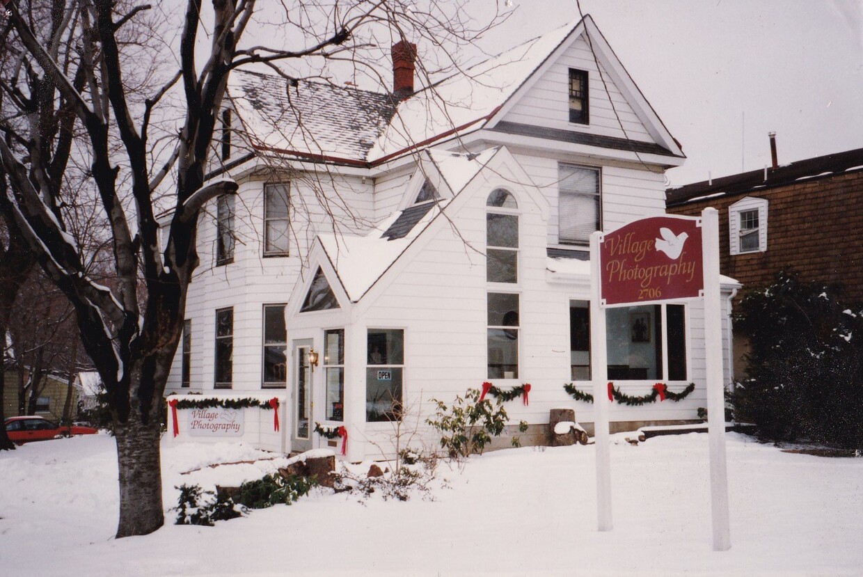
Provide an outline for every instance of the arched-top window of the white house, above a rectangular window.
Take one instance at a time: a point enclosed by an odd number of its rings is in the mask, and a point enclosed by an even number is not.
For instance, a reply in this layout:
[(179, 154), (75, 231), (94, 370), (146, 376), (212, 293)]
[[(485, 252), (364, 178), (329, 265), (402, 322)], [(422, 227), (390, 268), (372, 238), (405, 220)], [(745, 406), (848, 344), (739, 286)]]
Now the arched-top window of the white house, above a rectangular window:
[(492, 191), (486, 202), (486, 280), (519, 281), (519, 216), (515, 198), (503, 189)]

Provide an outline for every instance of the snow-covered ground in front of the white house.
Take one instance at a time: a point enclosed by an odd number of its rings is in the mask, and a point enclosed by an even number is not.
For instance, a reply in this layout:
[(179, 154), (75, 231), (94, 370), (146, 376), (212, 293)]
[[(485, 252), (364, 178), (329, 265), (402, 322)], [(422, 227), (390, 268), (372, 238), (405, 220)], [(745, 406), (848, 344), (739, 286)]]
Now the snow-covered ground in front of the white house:
[[(518, 448), (438, 468), (433, 501), (323, 490), (215, 527), (113, 539), (112, 437), (0, 452), (3, 575), (860, 575), (863, 459), (782, 453), (728, 434), (731, 542), (711, 546), (707, 435), (613, 436), (614, 530), (596, 530), (594, 450)], [(173, 488), (258, 478), (236, 444), (166, 443)], [(227, 479), (231, 477), (231, 479)]]

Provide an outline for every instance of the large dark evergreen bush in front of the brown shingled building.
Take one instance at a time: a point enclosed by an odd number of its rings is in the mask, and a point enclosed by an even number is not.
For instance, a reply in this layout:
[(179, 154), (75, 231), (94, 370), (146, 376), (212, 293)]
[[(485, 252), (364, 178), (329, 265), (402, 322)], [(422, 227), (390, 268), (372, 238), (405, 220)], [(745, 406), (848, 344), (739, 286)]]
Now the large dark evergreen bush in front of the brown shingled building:
[(738, 417), (773, 440), (863, 447), (863, 310), (835, 289), (779, 273), (740, 301), (735, 328), (749, 338)]

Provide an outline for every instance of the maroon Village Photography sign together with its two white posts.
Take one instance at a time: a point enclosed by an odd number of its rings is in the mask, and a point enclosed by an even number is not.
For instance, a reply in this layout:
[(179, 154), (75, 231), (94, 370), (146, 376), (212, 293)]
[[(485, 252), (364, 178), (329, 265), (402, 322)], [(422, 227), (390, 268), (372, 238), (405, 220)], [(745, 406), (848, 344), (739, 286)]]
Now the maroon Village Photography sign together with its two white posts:
[[(701, 254), (696, 248), (699, 244)], [(605, 309), (608, 306), (702, 298), (713, 548), (716, 551), (728, 550), (731, 539), (722, 379), (719, 213), (712, 208), (705, 209), (700, 222), (687, 216), (653, 216), (608, 233), (597, 231), (590, 236), (590, 260), (590, 366), (594, 391), (599, 530), (612, 529), (608, 447), (611, 385), (606, 384), (608, 375), (605, 373), (608, 366)]]

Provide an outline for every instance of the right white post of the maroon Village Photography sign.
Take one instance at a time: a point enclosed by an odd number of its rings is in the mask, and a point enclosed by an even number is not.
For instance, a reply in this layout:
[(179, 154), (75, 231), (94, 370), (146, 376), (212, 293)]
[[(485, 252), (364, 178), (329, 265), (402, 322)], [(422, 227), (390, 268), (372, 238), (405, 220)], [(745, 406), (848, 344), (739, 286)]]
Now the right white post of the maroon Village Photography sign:
[(702, 211), (704, 257), (704, 348), (707, 371), (710, 511), (713, 549), (731, 547), (728, 521), (728, 469), (725, 455), (725, 385), (722, 379), (722, 324), (719, 293), (719, 212)]

